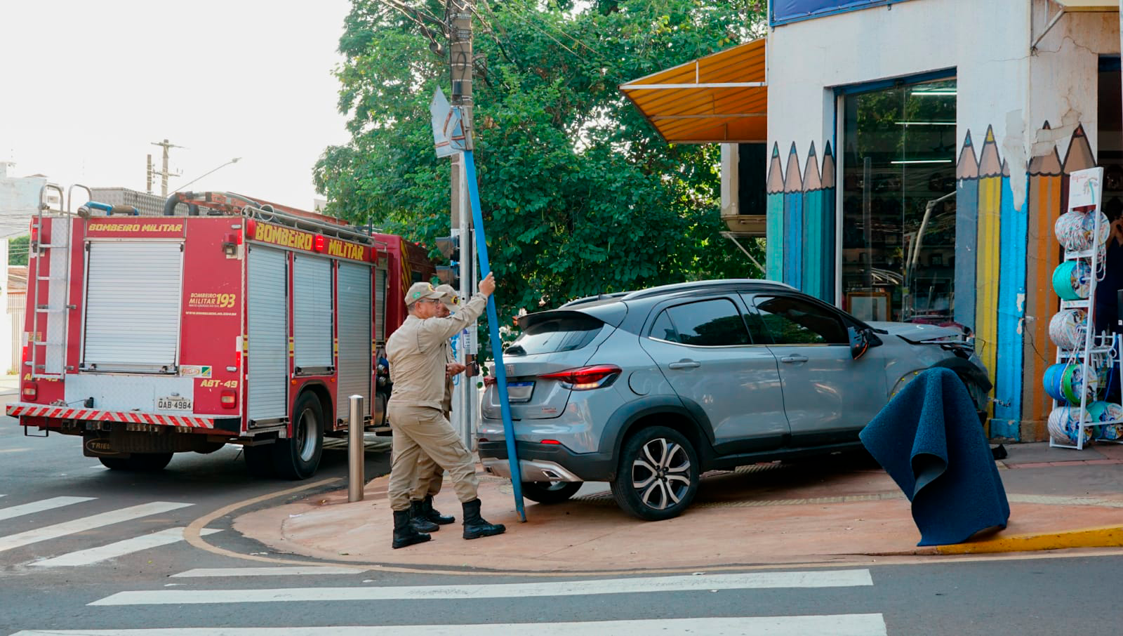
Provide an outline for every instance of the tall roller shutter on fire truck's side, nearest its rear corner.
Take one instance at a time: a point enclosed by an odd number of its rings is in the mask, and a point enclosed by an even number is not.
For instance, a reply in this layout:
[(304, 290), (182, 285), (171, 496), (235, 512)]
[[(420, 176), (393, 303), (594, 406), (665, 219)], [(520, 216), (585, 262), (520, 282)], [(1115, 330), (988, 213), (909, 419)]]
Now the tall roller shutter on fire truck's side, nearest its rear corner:
[(249, 419), (287, 416), (289, 320), (285, 253), (254, 245), (246, 285), (249, 331), (246, 360)]

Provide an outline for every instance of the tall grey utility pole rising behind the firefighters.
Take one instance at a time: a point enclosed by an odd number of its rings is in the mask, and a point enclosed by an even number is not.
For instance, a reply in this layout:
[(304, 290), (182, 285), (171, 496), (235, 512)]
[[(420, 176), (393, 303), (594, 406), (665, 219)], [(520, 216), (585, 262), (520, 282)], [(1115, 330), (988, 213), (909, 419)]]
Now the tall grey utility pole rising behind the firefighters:
[[(447, 0), (445, 20), (448, 33), (449, 79), (453, 107), (460, 109), (460, 126), (464, 130), (464, 147), (471, 151), (472, 142), (472, 2), (473, 0)], [(468, 209), (468, 185), (465, 176), (464, 157), (453, 155), (451, 164), (451, 229), (460, 242), (460, 298), (467, 300), (475, 289), (475, 251), (472, 248), (472, 212)], [(460, 333), (456, 361), (469, 367), (475, 364), (478, 327), (473, 324)], [(478, 412), (476, 383), (471, 374), (462, 376), (453, 396), (453, 426), (460, 431), (464, 445), (475, 446), (475, 414)], [(459, 411), (459, 412), (457, 412)]]

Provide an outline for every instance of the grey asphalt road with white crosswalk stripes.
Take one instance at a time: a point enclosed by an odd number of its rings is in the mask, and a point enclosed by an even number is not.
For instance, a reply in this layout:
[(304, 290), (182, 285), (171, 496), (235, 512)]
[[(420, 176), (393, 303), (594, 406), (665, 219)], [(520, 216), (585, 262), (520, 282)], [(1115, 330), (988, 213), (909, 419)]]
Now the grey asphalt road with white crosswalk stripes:
[[(368, 452), (367, 475), (387, 461), (386, 451)], [(346, 451), (326, 452), (317, 479), (345, 474)], [(24, 437), (0, 418), (0, 636), (348, 636), (413, 625), (460, 636), (1114, 635), (1123, 620), (1123, 556), (573, 580), (277, 570), (176, 540), (177, 528), (208, 512), (292, 487), (248, 476), (234, 447), (176, 455), (154, 475), (117, 473), (83, 457), (76, 438)], [(228, 518), (208, 528), (214, 545), (268, 552)]]

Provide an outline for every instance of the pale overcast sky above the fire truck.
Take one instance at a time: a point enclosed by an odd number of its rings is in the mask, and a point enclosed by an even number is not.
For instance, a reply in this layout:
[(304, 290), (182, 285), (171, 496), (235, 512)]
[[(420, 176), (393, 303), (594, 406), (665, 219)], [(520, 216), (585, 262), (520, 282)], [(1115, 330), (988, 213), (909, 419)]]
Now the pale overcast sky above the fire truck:
[[(0, 0), (0, 161), (65, 189), (144, 191), (167, 138), (190, 190), (302, 209), (346, 143), (332, 69), (348, 0)], [(154, 183), (159, 193), (159, 180)]]

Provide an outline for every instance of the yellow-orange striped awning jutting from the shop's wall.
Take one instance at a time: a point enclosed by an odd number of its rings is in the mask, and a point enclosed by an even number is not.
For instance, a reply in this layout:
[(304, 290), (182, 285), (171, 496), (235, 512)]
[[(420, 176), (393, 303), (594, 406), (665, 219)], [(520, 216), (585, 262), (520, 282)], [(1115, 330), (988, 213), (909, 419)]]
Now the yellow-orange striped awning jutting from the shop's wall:
[(672, 143), (768, 140), (765, 38), (620, 85)]

